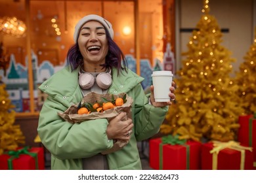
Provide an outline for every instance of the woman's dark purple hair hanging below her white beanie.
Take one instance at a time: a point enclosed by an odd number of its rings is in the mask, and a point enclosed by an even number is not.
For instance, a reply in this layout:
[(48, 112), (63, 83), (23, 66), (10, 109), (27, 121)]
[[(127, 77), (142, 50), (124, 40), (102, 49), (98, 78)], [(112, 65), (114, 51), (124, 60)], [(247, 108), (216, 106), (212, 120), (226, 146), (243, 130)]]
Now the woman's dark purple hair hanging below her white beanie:
[[(110, 34), (106, 28), (105, 31), (106, 39), (108, 40), (108, 54), (106, 55), (106, 62), (100, 66), (108, 70), (116, 67), (117, 73), (119, 75), (121, 71), (127, 71), (127, 60), (125, 59), (125, 56), (119, 46), (117, 46), (116, 42), (111, 39)], [(72, 71), (83, 65), (83, 56), (79, 51), (79, 46), (77, 43), (70, 47), (68, 50), (67, 58), (68, 64), (71, 66)]]

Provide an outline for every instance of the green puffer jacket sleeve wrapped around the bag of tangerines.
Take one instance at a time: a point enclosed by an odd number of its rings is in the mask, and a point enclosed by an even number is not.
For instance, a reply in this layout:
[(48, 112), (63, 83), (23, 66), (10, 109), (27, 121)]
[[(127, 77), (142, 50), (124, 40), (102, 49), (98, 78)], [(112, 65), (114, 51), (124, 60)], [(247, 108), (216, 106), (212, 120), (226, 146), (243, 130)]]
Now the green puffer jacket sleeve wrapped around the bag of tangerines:
[(37, 128), (43, 145), (58, 159), (88, 158), (112, 148), (106, 127), (108, 120), (88, 120), (71, 124), (58, 116), (64, 112), (64, 105), (56, 105), (53, 96), (45, 101), (39, 116)]

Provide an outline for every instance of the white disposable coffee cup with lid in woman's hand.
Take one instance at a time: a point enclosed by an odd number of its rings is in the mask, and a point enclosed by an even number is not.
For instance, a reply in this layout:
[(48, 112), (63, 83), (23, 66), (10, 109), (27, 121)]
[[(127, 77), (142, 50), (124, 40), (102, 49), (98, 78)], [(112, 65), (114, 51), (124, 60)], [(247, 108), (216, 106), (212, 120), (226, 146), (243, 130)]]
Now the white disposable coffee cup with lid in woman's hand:
[(171, 71), (154, 71), (151, 76), (154, 86), (155, 101), (170, 101), (169, 93), (171, 83), (173, 82), (173, 73), (171, 73)]

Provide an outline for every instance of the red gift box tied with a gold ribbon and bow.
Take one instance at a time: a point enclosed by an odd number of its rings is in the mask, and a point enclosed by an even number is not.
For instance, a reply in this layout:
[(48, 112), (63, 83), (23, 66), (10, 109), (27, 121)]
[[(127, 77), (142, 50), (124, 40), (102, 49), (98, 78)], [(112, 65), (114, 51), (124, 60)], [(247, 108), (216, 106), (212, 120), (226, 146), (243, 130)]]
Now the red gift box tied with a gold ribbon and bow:
[[(234, 142), (234, 141), (230, 141), (230, 142)], [(224, 142), (224, 143), (228, 143), (228, 142)], [(234, 143), (239, 144), (238, 142), (234, 142)], [(241, 149), (240, 149), (240, 148), (236, 148), (236, 145), (234, 145), (234, 149), (232, 149), (232, 146), (230, 146), (229, 148), (219, 148), (218, 154), (215, 154), (214, 152), (211, 153), (211, 150), (213, 150), (213, 148), (218, 148), (214, 145), (213, 142), (207, 142), (202, 145), (201, 163), (202, 163), (203, 170), (211, 170), (211, 169), (252, 170), (253, 169), (253, 152), (251, 152), (248, 147), (241, 146)], [(244, 156), (242, 156), (243, 148), (245, 150)]]

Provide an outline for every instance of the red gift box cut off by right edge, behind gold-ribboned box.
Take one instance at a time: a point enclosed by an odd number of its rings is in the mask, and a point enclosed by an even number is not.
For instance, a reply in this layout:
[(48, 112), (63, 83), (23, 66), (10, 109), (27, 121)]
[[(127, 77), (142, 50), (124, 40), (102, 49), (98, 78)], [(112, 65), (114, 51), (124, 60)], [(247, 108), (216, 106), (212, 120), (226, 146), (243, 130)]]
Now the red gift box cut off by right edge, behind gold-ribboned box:
[(253, 161), (256, 169), (256, 113), (255, 115), (239, 116), (238, 141), (245, 146), (253, 147)]

